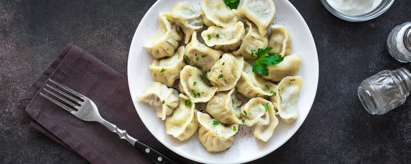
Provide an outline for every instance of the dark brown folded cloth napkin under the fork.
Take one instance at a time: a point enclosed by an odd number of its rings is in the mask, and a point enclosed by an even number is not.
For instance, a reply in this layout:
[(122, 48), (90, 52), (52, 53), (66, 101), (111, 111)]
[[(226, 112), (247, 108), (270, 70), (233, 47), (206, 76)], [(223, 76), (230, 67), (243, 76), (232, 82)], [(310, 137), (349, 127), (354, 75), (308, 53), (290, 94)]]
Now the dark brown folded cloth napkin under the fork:
[(99, 107), (105, 120), (127, 130), (172, 156), (179, 163), (193, 163), (162, 146), (142, 124), (129, 95), (127, 78), (103, 64), (90, 53), (71, 44), (58, 55), (49, 68), (29, 87), (19, 101), (33, 122), (30, 124), (91, 163), (149, 163), (129, 142), (120, 139), (97, 122), (84, 122), (38, 94), (48, 79), (58, 81), (84, 94)]

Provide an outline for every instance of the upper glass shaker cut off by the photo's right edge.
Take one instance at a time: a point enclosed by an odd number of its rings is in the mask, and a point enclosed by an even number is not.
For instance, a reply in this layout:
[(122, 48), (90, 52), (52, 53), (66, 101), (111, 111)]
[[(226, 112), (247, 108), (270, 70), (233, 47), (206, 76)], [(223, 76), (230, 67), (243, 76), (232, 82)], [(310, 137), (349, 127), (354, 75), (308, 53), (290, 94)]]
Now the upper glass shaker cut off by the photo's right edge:
[(401, 62), (411, 61), (411, 22), (395, 27), (387, 39), (391, 56)]

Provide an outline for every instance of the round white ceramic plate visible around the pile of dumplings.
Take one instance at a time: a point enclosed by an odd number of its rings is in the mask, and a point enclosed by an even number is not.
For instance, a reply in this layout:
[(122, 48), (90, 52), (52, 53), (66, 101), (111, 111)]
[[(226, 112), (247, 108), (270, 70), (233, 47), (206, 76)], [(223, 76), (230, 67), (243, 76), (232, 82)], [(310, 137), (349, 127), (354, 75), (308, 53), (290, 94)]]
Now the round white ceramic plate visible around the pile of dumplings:
[[(197, 137), (198, 133), (183, 142), (167, 135), (164, 121), (157, 118), (155, 111), (149, 105), (136, 100), (136, 96), (142, 94), (145, 85), (153, 81), (149, 74), (149, 65), (153, 59), (142, 45), (145, 40), (157, 31), (158, 14), (160, 12), (170, 12), (177, 1), (158, 0), (155, 2), (142, 18), (140, 25), (138, 25), (130, 46), (127, 70), (129, 89), (134, 107), (136, 107), (142, 122), (164, 146), (187, 159), (201, 163), (245, 163), (259, 159), (282, 146), (306, 120), (312, 102), (314, 102), (319, 79), (319, 61), (316, 46), (303, 17), (289, 1), (273, 0), (277, 8), (274, 23), (284, 25), (290, 31), (293, 44), (292, 53), (301, 52), (302, 63), (298, 75), (303, 77), (303, 87), (299, 94), (299, 118), (292, 124), (284, 124), (280, 121), (277, 128), (275, 128), (273, 137), (266, 143), (256, 139), (251, 133), (251, 128), (240, 126), (234, 144), (228, 150), (220, 153), (210, 153), (201, 146)], [(191, 0), (191, 2), (199, 10), (201, 0)]]

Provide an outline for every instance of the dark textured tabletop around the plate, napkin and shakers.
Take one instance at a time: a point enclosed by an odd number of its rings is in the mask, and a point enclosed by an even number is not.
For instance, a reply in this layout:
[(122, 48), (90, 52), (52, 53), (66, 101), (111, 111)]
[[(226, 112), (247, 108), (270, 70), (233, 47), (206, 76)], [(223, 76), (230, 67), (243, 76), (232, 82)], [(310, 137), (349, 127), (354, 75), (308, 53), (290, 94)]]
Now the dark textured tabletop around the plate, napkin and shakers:
[[(386, 115), (369, 115), (356, 89), (363, 79), (401, 64), (386, 38), (411, 20), (411, 1), (397, 0), (364, 23), (336, 18), (319, 0), (290, 0), (312, 31), (319, 87), (299, 131), (275, 152), (254, 161), (275, 163), (411, 162), (411, 101)], [(0, 163), (88, 163), (28, 127), (18, 96), (67, 43), (127, 74), (129, 44), (155, 1), (0, 1)]]

